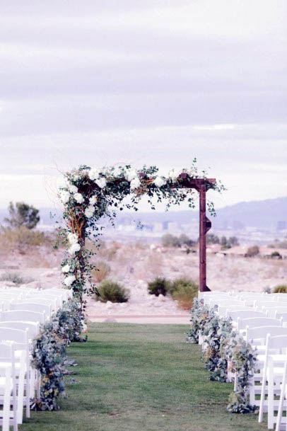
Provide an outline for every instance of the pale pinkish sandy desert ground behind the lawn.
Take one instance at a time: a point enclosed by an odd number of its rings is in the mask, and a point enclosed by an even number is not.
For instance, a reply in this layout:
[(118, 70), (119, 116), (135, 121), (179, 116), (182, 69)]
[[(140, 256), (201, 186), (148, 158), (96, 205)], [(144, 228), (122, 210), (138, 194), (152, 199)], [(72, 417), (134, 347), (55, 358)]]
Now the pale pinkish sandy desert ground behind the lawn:
[[(61, 259), (64, 248), (30, 246), (19, 250), (1, 249), (0, 278), (18, 274), (29, 287), (47, 289), (61, 285)], [(187, 254), (182, 248), (163, 248), (140, 242), (105, 241), (95, 256), (96, 263), (106, 263), (109, 280), (129, 289), (126, 303), (112, 304), (87, 298), (88, 317), (92, 321), (125, 321), (143, 323), (187, 323), (188, 311), (182, 310), (170, 297), (148, 294), (147, 283), (155, 277), (175, 280), (177, 277), (198, 280), (198, 252)], [(283, 284), (287, 278), (287, 260), (245, 258), (243, 255), (208, 253), (208, 285), (212, 290), (254, 291)], [(0, 285), (13, 285), (1, 281)]]

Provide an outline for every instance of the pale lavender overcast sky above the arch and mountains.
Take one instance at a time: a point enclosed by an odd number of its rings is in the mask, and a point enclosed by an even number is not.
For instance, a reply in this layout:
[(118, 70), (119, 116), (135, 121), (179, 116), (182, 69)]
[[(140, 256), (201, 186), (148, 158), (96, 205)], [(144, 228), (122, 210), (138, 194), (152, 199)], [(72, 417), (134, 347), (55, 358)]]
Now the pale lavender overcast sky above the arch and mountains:
[(0, 207), (85, 163), (188, 167), (218, 206), (287, 195), (286, 0), (0, 1)]

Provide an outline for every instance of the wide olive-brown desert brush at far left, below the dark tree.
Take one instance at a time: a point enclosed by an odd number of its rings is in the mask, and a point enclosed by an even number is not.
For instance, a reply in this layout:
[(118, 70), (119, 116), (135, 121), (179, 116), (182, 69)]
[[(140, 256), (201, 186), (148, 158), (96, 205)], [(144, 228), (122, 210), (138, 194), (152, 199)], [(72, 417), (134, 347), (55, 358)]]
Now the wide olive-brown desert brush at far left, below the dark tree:
[(35, 246), (50, 246), (52, 239), (41, 231), (33, 231), (25, 226), (18, 229), (1, 228), (0, 232), (1, 248), (5, 250), (15, 250), (25, 252), (26, 249)]

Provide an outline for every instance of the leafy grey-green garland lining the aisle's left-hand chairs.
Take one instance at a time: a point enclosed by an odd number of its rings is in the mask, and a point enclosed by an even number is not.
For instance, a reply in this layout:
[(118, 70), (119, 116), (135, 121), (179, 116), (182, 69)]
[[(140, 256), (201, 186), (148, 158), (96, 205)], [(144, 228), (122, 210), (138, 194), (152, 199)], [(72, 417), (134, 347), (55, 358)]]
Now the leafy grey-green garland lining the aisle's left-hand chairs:
[(83, 328), (81, 304), (69, 299), (33, 340), (32, 364), (41, 375), (40, 399), (33, 403), (35, 410), (59, 410), (58, 398), (65, 390), (66, 346), (82, 340)]

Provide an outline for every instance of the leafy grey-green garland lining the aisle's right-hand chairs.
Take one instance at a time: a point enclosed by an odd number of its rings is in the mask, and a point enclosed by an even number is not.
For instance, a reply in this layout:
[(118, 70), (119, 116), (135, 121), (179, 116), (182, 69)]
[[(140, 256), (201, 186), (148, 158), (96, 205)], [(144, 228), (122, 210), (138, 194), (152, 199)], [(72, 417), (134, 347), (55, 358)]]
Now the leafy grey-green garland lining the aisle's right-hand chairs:
[(231, 319), (222, 318), (215, 309), (194, 299), (191, 310), (189, 343), (202, 342), (203, 360), (210, 372), (210, 379), (230, 381), (236, 374), (236, 388), (230, 393), (227, 410), (231, 413), (251, 413), (257, 408), (250, 405), (250, 380), (256, 369), (256, 352), (237, 331)]

